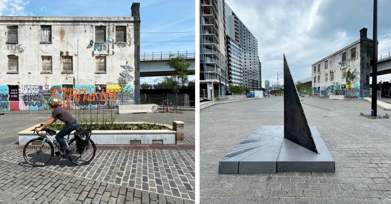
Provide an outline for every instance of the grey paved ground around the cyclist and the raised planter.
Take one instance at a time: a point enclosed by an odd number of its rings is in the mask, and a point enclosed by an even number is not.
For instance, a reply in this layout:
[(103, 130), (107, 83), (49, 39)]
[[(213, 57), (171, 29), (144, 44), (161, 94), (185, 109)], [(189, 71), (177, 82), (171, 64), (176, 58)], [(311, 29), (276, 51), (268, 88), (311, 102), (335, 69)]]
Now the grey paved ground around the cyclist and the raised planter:
[[(28, 166), (22, 151), (11, 149), (17, 145), (17, 132), (48, 116), (48, 111), (0, 115), (0, 203), (194, 203), (194, 149), (97, 150), (86, 166), (59, 158), (46, 167)], [(194, 144), (194, 112), (113, 116), (124, 122), (184, 121), (185, 140), (178, 144)]]

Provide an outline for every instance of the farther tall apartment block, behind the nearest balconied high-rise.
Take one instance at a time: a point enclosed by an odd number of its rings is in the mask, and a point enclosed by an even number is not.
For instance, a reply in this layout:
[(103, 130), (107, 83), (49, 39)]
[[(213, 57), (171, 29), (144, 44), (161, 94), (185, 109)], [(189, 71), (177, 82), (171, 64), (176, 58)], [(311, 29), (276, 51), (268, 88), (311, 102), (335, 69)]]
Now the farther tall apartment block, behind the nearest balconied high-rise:
[[(232, 9), (226, 4), (226, 22), (227, 22), (227, 35), (231, 38), (230, 42), (236, 41), (241, 51), (241, 71), (242, 71), (242, 85), (249, 90), (261, 89), (261, 62), (258, 57), (258, 40), (247, 29), (244, 23), (239, 17), (232, 11)], [(227, 40), (228, 41), (228, 40)], [(231, 43), (232, 45), (233, 43)], [(235, 49), (234, 46), (227, 46), (227, 52)], [(231, 51), (232, 53), (232, 51)], [(232, 55), (231, 55), (232, 57)], [(231, 63), (233, 61), (231, 60)], [(231, 67), (231, 68), (230, 68)], [(230, 66), (230, 59), (228, 59), (228, 72), (233, 73), (232, 64)], [(230, 72), (231, 70), (231, 72)]]

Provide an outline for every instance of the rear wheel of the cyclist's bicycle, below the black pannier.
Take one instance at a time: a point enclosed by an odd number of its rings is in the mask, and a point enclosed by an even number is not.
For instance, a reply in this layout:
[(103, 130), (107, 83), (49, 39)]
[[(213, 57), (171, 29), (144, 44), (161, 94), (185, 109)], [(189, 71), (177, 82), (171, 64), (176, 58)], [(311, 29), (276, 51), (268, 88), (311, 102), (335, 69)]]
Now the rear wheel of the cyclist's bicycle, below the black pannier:
[(82, 153), (77, 151), (76, 147), (76, 138), (71, 139), (68, 143), (69, 146), (72, 147), (75, 151), (72, 155), (68, 157), (69, 161), (76, 165), (86, 165), (90, 164), (90, 162), (94, 159), (96, 153), (96, 145), (94, 141), (90, 139), (90, 143), (88, 145), (88, 149), (83, 150)]

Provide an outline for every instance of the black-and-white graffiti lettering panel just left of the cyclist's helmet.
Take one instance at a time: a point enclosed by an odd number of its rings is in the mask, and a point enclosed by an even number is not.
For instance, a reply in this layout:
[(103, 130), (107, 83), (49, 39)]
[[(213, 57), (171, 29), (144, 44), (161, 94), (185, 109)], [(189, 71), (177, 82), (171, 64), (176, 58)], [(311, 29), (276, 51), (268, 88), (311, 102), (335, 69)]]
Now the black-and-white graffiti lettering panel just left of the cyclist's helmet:
[(19, 110), (42, 110), (43, 86), (42, 85), (19, 85)]

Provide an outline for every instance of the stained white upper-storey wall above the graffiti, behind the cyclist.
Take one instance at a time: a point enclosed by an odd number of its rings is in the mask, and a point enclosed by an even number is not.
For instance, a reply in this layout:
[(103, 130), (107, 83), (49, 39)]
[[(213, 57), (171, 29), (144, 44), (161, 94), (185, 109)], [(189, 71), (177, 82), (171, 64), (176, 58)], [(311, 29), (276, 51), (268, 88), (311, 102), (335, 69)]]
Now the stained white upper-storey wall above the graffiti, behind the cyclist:
[[(0, 84), (116, 84), (121, 65), (133, 68), (133, 17), (2, 17), (0, 25)], [(18, 26), (18, 43), (8, 44), (7, 25)], [(51, 25), (51, 43), (41, 43), (41, 25)], [(104, 25), (106, 42), (95, 42), (95, 27)], [(126, 41), (116, 42), (116, 27), (126, 27)], [(93, 44), (87, 46), (90, 41)], [(137, 39), (136, 39), (137, 40)], [(138, 39), (139, 40), (139, 39)], [(18, 73), (7, 73), (8, 55), (18, 56)], [(72, 56), (73, 71), (63, 72), (62, 56)], [(52, 56), (52, 72), (42, 72), (41, 56)], [(106, 72), (96, 72), (96, 57), (106, 56)], [(134, 79), (129, 82), (133, 85)]]

